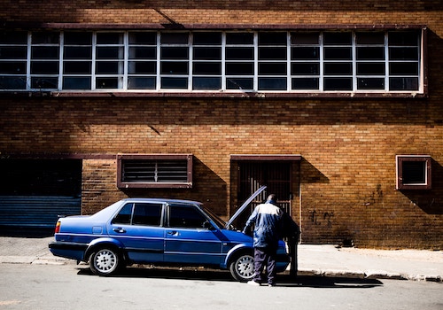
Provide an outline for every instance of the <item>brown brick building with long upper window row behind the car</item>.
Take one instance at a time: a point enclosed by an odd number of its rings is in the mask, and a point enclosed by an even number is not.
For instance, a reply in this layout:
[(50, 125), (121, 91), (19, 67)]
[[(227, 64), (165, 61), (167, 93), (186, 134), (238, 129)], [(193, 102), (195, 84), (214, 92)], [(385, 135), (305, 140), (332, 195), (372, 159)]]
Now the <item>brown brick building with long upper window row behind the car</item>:
[(126, 197), (443, 246), (441, 1), (0, 0), (0, 226)]

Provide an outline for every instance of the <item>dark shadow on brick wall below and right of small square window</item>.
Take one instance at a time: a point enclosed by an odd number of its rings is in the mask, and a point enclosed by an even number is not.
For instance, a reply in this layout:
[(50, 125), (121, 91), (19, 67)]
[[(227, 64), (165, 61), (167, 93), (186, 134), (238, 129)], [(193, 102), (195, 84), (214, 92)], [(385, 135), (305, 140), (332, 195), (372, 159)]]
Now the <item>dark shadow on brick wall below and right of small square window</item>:
[(431, 190), (400, 190), (411, 204), (417, 205), (427, 214), (443, 214), (443, 167), (432, 159)]

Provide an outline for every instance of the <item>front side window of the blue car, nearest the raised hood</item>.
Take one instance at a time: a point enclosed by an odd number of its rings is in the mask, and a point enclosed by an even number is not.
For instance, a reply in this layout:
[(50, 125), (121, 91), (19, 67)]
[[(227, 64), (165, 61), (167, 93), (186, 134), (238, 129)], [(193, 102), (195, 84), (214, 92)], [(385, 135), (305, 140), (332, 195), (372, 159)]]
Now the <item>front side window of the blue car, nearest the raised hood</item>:
[(201, 229), (206, 217), (191, 205), (169, 205), (169, 227)]

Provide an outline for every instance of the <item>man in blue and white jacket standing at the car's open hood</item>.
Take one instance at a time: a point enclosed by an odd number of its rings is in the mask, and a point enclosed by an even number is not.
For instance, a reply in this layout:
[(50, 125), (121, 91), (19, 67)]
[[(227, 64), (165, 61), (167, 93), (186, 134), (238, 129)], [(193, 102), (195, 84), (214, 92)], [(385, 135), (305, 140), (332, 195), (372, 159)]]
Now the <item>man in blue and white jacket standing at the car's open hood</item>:
[(260, 285), (261, 273), (266, 266), (268, 286), (276, 285), (276, 250), (281, 237), (284, 212), (276, 205), (271, 194), (264, 204), (257, 205), (246, 221), (243, 233), (253, 225), (254, 275), (248, 284)]

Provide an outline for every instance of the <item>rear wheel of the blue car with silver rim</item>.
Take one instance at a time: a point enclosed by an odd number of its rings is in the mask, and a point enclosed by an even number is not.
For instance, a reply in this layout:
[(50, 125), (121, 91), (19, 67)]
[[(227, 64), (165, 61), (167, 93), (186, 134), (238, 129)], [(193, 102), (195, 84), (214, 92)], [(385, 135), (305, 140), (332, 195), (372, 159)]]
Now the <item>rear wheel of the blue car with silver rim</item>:
[(120, 255), (111, 247), (103, 247), (89, 256), (89, 268), (95, 275), (114, 275), (120, 267)]

